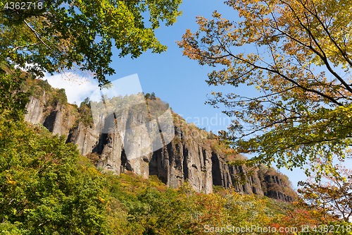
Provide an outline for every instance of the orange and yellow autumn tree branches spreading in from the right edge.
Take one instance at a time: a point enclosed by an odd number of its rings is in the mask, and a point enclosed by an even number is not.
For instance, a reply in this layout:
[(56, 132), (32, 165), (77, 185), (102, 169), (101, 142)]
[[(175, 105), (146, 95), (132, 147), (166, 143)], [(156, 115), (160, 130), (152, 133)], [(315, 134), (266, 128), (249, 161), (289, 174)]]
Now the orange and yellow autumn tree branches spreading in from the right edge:
[[(178, 42), (199, 64), (218, 66), (209, 85), (253, 88), (253, 97), (213, 92), (233, 118), (220, 136), (246, 163), (303, 167), (322, 157), (350, 157), (351, 1), (229, 0), (241, 22), (199, 17)], [(306, 171), (309, 174), (309, 171)]]

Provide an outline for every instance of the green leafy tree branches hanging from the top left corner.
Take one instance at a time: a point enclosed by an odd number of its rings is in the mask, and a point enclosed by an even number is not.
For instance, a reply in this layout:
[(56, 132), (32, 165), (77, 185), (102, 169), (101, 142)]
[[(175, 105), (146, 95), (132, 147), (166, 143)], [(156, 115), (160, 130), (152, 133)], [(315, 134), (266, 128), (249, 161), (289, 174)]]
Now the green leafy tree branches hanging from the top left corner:
[[(92, 71), (101, 84), (114, 73), (113, 42), (120, 56), (137, 58), (147, 49), (166, 50), (154, 30), (175, 23), (181, 0), (0, 1), (0, 63), (36, 76), (71, 69)], [(149, 13), (150, 26), (144, 22)], [(28, 65), (30, 64), (30, 65)]]

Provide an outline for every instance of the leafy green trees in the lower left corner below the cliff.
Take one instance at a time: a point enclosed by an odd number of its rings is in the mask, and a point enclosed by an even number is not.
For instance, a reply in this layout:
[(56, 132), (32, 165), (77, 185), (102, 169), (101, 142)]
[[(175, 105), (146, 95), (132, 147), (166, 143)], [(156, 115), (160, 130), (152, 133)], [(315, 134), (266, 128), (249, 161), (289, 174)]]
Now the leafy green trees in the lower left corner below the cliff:
[(0, 116), (0, 147), (1, 234), (108, 233), (107, 181), (75, 145)]

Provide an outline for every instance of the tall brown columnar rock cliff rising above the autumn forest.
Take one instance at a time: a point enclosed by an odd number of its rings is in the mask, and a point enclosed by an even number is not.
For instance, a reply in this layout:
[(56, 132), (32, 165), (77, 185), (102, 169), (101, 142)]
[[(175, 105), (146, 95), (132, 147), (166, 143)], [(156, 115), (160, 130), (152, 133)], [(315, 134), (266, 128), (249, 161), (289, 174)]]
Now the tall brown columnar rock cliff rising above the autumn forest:
[[(196, 191), (203, 193), (211, 193), (214, 185), (234, 188), (235, 191), (246, 194), (267, 195), (284, 201), (294, 200), (289, 193), (282, 191), (287, 186), (275, 174), (254, 171), (251, 176), (246, 176), (246, 183), (239, 183), (238, 174), (246, 174), (245, 167), (227, 164), (226, 156), (212, 148), (210, 143), (215, 140), (206, 131), (180, 120), (180, 116), (174, 115), (174, 140), (143, 155), (141, 151), (148, 145), (146, 132), (151, 128), (144, 121), (146, 117), (143, 114), (118, 116), (118, 121), (123, 123), (126, 131), (100, 133), (94, 126), (87, 126), (79, 121), (77, 112), (70, 111), (67, 105), (71, 104), (61, 105), (58, 102), (48, 109), (45, 95), (41, 100), (30, 97), (25, 120), (41, 123), (53, 134), (65, 136), (66, 142), (75, 143), (82, 155), (94, 153), (99, 156), (96, 167), (103, 171), (113, 171), (115, 174), (133, 171), (145, 178), (156, 175), (172, 188), (189, 181)], [(106, 121), (107, 117), (101, 116), (101, 119)], [(131, 126), (139, 126), (138, 138), (134, 136), (135, 128), (129, 128)], [(126, 151), (130, 155), (142, 157), (127, 159)]]

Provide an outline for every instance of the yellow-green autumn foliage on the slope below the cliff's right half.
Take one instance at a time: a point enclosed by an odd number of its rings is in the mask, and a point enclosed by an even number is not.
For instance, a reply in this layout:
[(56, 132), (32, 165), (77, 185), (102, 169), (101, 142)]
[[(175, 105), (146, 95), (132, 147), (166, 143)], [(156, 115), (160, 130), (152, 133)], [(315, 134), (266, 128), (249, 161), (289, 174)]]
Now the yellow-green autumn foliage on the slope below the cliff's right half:
[(111, 196), (118, 212), (111, 222), (117, 234), (206, 234), (205, 224), (265, 227), (284, 217), (280, 206), (285, 203), (221, 188), (206, 195), (196, 193), (187, 183), (175, 190), (156, 178), (146, 180), (132, 174), (113, 178), (112, 185)]

